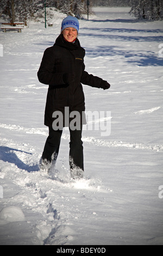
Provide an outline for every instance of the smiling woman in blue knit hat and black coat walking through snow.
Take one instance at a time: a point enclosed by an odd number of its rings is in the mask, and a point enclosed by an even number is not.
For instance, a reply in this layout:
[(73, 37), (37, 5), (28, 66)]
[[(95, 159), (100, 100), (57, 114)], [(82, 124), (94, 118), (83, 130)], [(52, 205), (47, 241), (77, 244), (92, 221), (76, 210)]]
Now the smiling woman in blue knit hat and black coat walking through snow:
[[(39, 81), (49, 85), (45, 108), (45, 125), (49, 127), (49, 136), (42, 153), (40, 169), (48, 171), (57, 160), (62, 129), (69, 126), (70, 173), (73, 179), (82, 178), (84, 174), (82, 125), (86, 124), (86, 120), (81, 83), (104, 90), (110, 88), (108, 82), (85, 71), (85, 50), (77, 39), (78, 32), (77, 18), (67, 16), (62, 21), (61, 34), (55, 44), (45, 50), (37, 72)], [(73, 113), (78, 114), (78, 121), (72, 121)]]

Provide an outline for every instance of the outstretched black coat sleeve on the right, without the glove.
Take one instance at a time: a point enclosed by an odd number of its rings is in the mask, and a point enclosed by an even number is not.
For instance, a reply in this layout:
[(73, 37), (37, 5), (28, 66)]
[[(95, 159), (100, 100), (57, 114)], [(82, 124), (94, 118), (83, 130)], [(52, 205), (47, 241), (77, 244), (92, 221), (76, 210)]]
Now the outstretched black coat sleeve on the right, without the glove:
[(85, 71), (85, 65), (83, 64), (83, 73), (80, 80), (81, 83), (87, 84), (87, 86), (100, 88), (101, 81), (102, 78), (88, 74), (88, 72)]

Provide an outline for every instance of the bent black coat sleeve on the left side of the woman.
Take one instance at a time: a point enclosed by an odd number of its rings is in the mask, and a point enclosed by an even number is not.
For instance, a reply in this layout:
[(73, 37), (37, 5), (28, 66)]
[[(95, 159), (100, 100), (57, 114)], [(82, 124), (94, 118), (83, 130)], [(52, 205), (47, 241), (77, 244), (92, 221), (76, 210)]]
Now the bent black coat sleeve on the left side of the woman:
[(63, 81), (64, 73), (55, 73), (55, 56), (52, 47), (49, 47), (43, 53), (41, 65), (37, 72), (40, 83), (49, 84), (50, 86), (59, 86), (65, 84)]

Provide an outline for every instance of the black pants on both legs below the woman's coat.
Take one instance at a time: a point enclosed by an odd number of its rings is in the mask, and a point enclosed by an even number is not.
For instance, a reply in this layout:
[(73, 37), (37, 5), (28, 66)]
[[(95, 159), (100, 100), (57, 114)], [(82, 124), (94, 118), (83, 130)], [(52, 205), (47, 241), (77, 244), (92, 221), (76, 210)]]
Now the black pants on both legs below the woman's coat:
[[(80, 130), (70, 130), (70, 169), (79, 167), (84, 171), (82, 127)], [(49, 136), (45, 143), (42, 159), (48, 162), (56, 161), (59, 153), (62, 130), (54, 131), (49, 127)]]

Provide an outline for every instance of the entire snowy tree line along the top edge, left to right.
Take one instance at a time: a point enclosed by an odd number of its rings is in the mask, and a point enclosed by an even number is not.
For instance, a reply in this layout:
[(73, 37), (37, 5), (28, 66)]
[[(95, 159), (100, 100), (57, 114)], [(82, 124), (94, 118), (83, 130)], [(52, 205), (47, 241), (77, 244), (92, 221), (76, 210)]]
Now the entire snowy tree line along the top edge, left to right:
[(0, 15), (10, 22), (34, 19), (45, 7), (54, 7), (67, 15), (81, 18), (92, 6), (129, 6), (137, 19), (163, 20), (163, 0), (2, 0)]

